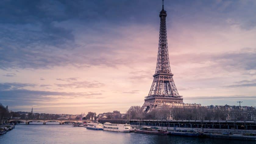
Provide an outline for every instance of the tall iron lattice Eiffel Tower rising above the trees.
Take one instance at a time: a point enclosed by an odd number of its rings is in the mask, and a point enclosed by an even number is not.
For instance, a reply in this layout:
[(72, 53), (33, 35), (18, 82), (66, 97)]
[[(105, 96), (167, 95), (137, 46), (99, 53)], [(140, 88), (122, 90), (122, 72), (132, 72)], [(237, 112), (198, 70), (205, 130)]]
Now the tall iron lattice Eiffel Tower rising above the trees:
[(172, 78), (173, 74), (171, 72), (167, 44), (166, 16), (167, 13), (163, 5), (159, 15), (160, 32), (154, 80), (142, 106), (145, 112), (155, 109), (157, 106), (160, 107), (172, 103), (183, 104), (183, 96), (179, 95)]

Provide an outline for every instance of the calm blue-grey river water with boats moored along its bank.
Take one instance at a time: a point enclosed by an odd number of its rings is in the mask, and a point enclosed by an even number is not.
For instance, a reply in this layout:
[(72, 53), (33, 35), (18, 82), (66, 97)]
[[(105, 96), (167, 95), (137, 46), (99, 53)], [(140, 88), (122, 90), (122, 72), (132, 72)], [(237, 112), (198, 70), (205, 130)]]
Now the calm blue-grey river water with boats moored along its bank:
[(1, 144), (255, 144), (250, 141), (96, 131), (71, 125), (16, 125)]

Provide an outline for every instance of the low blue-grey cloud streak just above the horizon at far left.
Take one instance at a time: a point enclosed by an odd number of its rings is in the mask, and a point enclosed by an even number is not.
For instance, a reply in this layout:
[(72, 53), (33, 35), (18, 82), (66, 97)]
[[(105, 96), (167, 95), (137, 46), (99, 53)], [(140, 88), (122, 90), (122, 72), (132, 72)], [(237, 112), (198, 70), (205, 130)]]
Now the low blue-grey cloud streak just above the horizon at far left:
[[(8, 105), (26, 105), (37, 104), (40, 102), (70, 99), (76, 97), (97, 98), (95, 96), (102, 95), (96, 92), (59, 92), (59, 91), (43, 91), (43, 90), (27, 90), (25, 87), (35, 87), (36, 84), (31, 83), (0, 83), (0, 101), (5, 101)], [(50, 85), (40, 85), (41, 87)]]

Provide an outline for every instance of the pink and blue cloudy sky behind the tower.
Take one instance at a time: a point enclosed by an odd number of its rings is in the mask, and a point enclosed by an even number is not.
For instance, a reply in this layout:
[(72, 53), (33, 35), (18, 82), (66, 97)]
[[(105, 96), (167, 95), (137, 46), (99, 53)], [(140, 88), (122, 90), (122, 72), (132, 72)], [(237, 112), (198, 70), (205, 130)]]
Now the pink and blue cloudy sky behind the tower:
[[(144, 104), (161, 0), (2, 0), (0, 103), (80, 114)], [(256, 1), (165, 0), (169, 58), (184, 103), (256, 106)]]

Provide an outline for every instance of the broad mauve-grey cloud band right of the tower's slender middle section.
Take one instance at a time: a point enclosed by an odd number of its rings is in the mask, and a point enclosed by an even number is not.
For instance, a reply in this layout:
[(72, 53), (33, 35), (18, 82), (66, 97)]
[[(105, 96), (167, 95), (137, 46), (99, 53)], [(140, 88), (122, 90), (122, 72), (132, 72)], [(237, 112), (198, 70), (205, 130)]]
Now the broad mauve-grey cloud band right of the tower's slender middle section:
[(256, 48), (250, 48), (248, 51), (243, 48), (240, 51), (223, 53), (171, 54), (170, 57), (172, 58), (172, 65), (208, 63), (208, 66), (221, 66), (229, 71), (256, 69)]

